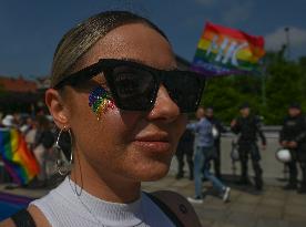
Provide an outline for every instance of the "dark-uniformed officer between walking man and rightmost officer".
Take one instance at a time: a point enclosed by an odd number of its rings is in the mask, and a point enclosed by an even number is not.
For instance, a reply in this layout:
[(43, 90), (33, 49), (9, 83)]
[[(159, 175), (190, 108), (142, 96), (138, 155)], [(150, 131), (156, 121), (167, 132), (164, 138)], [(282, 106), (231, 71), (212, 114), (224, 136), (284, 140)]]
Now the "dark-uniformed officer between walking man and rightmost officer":
[(244, 103), (241, 109), (241, 116), (233, 120), (231, 130), (235, 134), (239, 134), (238, 153), (242, 167), (239, 184), (249, 184), (247, 163), (251, 156), (253, 169), (255, 172), (255, 187), (261, 190), (263, 188), (263, 169), (259, 165), (261, 154), (257, 146), (257, 135), (259, 135), (263, 148), (266, 146), (266, 138), (261, 130), (261, 121), (257, 116), (251, 114), (248, 103)]

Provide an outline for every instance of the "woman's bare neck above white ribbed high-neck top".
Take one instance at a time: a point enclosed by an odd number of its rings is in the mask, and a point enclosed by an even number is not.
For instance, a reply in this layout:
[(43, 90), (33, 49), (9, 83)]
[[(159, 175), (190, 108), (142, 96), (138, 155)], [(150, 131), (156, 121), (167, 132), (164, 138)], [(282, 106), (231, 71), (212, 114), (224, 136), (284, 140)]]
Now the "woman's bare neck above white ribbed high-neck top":
[(110, 173), (98, 173), (84, 158), (75, 156), (70, 178), (89, 194), (106, 202), (132, 203), (140, 197), (141, 183)]

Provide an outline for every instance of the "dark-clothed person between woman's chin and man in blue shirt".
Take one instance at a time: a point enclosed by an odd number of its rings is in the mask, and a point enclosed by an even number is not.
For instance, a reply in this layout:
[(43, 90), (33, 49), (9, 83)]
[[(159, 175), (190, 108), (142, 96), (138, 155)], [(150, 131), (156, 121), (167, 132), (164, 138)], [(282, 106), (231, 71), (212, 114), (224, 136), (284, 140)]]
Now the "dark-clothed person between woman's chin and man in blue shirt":
[(175, 156), (177, 158), (177, 174), (176, 179), (184, 177), (184, 156), (186, 156), (190, 179), (193, 179), (193, 141), (194, 135), (190, 130), (185, 130), (184, 134), (180, 138)]

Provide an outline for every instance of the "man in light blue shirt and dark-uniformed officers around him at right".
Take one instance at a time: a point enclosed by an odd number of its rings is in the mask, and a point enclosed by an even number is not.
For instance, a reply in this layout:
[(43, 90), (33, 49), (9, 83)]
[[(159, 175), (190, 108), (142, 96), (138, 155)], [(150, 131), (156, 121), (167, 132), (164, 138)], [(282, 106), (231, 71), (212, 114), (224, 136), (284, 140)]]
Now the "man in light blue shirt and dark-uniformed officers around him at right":
[[(195, 196), (190, 197), (192, 203), (203, 203), (202, 182), (208, 179), (220, 193), (224, 202), (230, 200), (231, 188), (222, 182), (221, 174), (221, 135), (232, 132), (238, 136), (235, 148), (239, 161), (241, 175), (236, 182), (238, 185), (252, 185), (248, 176), (248, 159), (252, 161), (254, 171), (255, 189), (263, 190), (263, 168), (261, 166), (261, 152), (266, 149), (266, 137), (262, 131), (262, 121), (251, 112), (248, 103), (239, 106), (239, 116), (225, 127), (215, 116), (213, 107), (200, 107), (196, 112), (196, 122), (187, 124), (176, 152), (177, 174), (176, 179), (184, 176), (184, 156), (188, 164), (190, 179), (194, 179)], [(261, 141), (261, 148), (258, 147)], [(285, 117), (279, 132), (279, 146), (286, 148), (289, 155), (284, 165), (289, 169), (288, 184), (284, 189), (297, 189), (306, 193), (306, 116), (302, 113), (298, 103), (288, 106), (288, 115)], [(297, 180), (297, 163), (302, 171), (302, 182)], [(211, 173), (211, 164), (214, 164), (214, 174)]]

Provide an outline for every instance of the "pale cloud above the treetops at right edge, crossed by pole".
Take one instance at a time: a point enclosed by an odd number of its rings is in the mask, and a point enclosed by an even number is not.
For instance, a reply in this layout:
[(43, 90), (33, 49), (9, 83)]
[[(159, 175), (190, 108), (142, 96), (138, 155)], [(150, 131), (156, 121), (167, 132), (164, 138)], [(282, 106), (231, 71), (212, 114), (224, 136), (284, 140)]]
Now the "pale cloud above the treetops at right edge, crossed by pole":
[[(306, 30), (296, 27), (288, 28), (290, 48), (300, 48), (303, 45), (306, 45)], [(284, 28), (278, 28), (274, 32), (266, 34), (265, 43), (267, 50), (279, 50), (283, 44), (287, 43), (286, 32)]]

